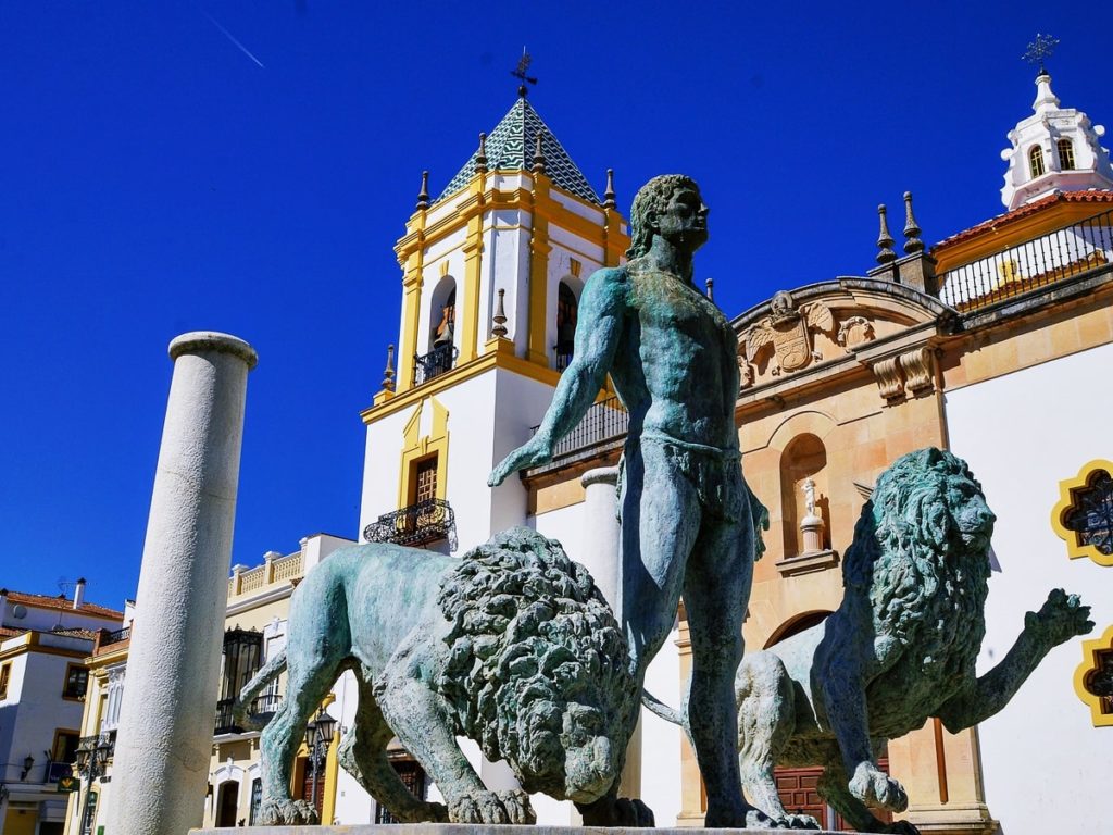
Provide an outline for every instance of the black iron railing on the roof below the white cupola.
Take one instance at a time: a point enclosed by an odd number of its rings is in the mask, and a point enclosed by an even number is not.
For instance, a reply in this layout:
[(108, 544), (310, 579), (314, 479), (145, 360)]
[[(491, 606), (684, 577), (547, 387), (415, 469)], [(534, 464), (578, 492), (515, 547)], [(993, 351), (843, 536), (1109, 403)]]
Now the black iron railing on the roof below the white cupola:
[(939, 298), (974, 311), (1110, 263), (1113, 209), (948, 269), (939, 276)]

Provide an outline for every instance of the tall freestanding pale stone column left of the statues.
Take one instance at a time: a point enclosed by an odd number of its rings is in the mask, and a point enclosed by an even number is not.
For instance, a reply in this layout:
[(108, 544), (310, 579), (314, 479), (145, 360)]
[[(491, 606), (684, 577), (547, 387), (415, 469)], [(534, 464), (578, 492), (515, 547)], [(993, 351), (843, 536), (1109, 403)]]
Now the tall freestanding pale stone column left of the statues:
[(112, 768), (112, 835), (200, 826), (213, 749), (244, 402), (257, 357), (235, 336), (197, 332), (174, 340), (170, 358)]

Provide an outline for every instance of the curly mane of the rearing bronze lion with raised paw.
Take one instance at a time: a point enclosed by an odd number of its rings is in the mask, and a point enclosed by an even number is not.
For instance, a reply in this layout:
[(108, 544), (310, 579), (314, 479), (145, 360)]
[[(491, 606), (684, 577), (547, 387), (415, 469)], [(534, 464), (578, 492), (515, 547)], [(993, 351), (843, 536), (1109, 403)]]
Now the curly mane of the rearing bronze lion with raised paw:
[[(967, 544), (959, 522), (979, 508), (983, 536)], [(976, 655), (992, 533), (993, 514), (966, 462), (934, 448), (910, 452), (881, 473), (861, 510), (843, 569), (847, 598), (868, 599), (879, 640), (915, 646), (925, 664), (949, 655), (957, 672), (963, 659), (942, 650), (951, 637), (937, 623), (968, 630), (964, 642)]]

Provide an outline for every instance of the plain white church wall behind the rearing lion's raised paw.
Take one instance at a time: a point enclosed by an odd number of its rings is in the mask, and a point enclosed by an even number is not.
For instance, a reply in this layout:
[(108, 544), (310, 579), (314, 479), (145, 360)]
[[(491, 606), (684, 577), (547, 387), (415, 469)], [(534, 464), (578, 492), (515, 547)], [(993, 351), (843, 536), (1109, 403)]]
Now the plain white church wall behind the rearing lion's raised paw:
[[(997, 514), (993, 547), (1002, 570), (989, 580), (979, 672), (1005, 656), (1024, 613), (1053, 588), (1093, 607), (1090, 639), (1113, 623), (1113, 568), (1068, 560), (1050, 522), (1058, 483), (1093, 459), (1113, 459), (1111, 367), (1113, 345), (1105, 345), (947, 395), (952, 449)], [(1083, 640), (1052, 650), (1013, 701), (979, 727), (986, 802), (1003, 835), (1042, 835), (1052, 824), (1113, 832), (1100, 811), (1113, 728), (1093, 726), (1073, 687)]]

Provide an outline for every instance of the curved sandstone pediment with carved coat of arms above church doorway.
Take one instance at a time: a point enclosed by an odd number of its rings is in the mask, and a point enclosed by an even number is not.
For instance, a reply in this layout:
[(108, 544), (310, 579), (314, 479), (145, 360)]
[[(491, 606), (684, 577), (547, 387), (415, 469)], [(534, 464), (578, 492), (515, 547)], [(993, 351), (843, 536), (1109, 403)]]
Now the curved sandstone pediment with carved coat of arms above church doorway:
[[(904, 355), (946, 327), (953, 311), (937, 298), (878, 278), (843, 277), (776, 293), (772, 298), (738, 316), (732, 325), (738, 334), (738, 364), (742, 392), (774, 384), (791, 385), (796, 376), (811, 377), (820, 369), (849, 363), (875, 369), (881, 385), (884, 369), (875, 367)], [(904, 379), (910, 376), (918, 389), (927, 385), (923, 366), (929, 360), (905, 361), (899, 391), (881, 385), (889, 399), (904, 394)], [(800, 381), (802, 382), (802, 380)], [(893, 381), (890, 381), (893, 382)], [(895, 383), (894, 383), (895, 384)]]

